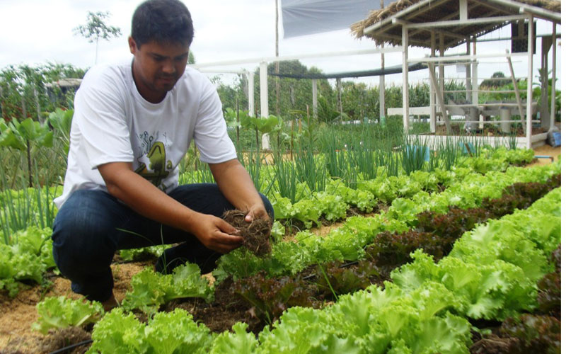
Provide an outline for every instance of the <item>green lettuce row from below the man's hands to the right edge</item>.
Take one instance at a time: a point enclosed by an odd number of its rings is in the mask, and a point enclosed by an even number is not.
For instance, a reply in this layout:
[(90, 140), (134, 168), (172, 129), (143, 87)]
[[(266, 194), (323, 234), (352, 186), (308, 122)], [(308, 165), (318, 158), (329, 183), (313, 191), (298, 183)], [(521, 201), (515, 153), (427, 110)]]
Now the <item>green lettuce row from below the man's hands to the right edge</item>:
[[(458, 171), (460, 173), (458, 173)], [(279, 242), (268, 257), (257, 257), (243, 250), (222, 256), (213, 275), (217, 280), (243, 278), (262, 270), (268, 275), (294, 274), (308, 265), (326, 261), (356, 261), (364, 247), (379, 232), (403, 232), (412, 227), (420, 212), (445, 213), (450, 206), (478, 207), (484, 198), (499, 198), (505, 187), (518, 182), (544, 183), (560, 173), (560, 161), (529, 169), (509, 167), (505, 172), (473, 173), (470, 169), (453, 171), (454, 183), (441, 192), (415, 193), (410, 198), (393, 200), (388, 210), (371, 217), (353, 216), (327, 235), (311, 230), (295, 235), (296, 242)], [(543, 227), (543, 225), (541, 225)]]

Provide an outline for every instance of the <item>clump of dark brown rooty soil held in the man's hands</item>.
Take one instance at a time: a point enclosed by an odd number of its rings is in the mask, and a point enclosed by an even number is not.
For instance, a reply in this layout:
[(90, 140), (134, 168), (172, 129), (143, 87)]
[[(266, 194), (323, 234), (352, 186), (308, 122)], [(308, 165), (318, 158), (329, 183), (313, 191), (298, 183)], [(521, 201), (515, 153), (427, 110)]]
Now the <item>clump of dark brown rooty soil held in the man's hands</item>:
[(252, 251), (256, 256), (265, 256), (271, 253), (270, 234), (271, 225), (269, 220), (258, 218), (253, 222), (246, 222), (247, 212), (241, 210), (229, 210), (224, 212), (222, 219), (239, 230), (243, 237), (243, 246)]

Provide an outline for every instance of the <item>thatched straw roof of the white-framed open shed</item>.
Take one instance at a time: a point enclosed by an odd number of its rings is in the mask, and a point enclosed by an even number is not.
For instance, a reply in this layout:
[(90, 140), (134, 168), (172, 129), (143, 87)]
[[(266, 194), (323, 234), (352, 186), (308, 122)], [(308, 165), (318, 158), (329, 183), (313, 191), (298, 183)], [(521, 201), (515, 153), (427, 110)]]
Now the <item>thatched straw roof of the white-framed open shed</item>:
[[(468, 18), (518, 15), (521, 8), (534, 11), (538, 18), (560, 23), (560, 1), (557, 0), (468, 0)], [(371, 38), (376, 45), (400, 45), (401, 26), (395, 24), (395, 21), (406, 23), (454, 21), (459, 19), (459, 14), (459, 0), (399, 0), (389, 4), (386, 8), (371, 11), (368, 18), (354, 23), (350, 29), (356, 38), (364, 36)], [(497, 28), (502, 28), (508, 23), (507, 20), (502, 20), (500, 23), (468, 23), (435, 28), (435, 31), (444, 33), (444, 46), (449, 48), (460, 45), (467, 38), (480, 37)], [(438, 37), (437, 35), (437, 42)], [(431, 31), (425, 28), (411, 30), (409, 45), (430, 47)]]

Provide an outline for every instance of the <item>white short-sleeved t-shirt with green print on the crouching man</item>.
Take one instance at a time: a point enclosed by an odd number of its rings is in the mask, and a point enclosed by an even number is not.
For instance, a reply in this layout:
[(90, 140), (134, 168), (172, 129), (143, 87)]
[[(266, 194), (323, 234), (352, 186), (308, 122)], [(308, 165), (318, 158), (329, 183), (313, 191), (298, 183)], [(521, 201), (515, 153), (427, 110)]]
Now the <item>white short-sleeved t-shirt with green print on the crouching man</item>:
[(191, 139), (206, 163), (236, 158), (221, 102), (209, 79), (187, 67), (160, 103), (137, 91), (131, 62), (88, 70), (76, 92), (61, 207), (72, 192), (106, 186), (97, 166), (132, 162), (134, 171), (168, 193)]

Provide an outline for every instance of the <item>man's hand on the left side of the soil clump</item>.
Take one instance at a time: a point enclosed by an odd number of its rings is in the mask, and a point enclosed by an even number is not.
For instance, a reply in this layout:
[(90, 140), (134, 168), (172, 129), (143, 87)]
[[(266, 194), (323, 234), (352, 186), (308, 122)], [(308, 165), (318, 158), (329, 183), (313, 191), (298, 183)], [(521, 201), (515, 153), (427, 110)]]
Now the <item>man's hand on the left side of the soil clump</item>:
[(219, 253), (228, 253), (237, 249), (243, 243), (243, 237), (235, 236), (238, 229), (219, 217), (206, 214), (198, 214), (198, 219), (193, 220), (194, 225), (190, 232), (194, 234), (207, 249)]

